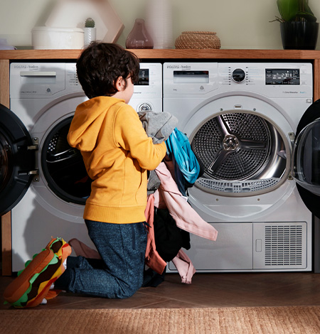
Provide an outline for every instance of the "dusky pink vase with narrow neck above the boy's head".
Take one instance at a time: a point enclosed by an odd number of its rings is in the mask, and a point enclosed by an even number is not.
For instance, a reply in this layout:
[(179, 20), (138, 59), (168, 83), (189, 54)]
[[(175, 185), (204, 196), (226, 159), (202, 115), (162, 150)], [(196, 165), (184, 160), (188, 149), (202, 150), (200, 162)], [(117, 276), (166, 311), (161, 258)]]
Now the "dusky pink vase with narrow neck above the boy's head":
[(154, 42), (148, 31), (142, 18), (137, 18), (134, 22), (134, 27), (129, 33), (126, 40), (127, 49), (152, 49), (154, 48)]

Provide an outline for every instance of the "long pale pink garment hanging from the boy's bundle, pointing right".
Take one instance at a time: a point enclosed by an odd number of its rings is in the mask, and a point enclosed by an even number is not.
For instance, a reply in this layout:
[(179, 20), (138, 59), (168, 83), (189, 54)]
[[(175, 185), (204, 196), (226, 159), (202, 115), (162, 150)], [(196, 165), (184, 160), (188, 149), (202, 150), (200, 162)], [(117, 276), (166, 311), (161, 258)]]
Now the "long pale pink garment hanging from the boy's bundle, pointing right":
[(176, 221), (176, 226), (181, 230), (215, 241), (218, 231), (204, 221), (183, 199), (176, 182), (163, 162), (156, 168), (156, 175), (159, 177), (161, 185), (154, 193), (154, 206), (168, 208), (170, 215)]

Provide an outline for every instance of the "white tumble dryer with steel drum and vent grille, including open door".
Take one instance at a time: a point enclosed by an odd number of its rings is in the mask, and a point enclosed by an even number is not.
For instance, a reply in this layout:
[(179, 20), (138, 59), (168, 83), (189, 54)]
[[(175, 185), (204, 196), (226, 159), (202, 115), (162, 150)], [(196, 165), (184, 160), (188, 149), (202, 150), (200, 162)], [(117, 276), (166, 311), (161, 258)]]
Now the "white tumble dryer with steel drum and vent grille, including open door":
[[(218, 230), (191, 235), (198, 272), (311, 271), (320, 217), (320, 104), (311, 63), (164, 63), (164, 111), (201, 166), (188, 202)], [(172, 263), (169, 271), (175, 271)]]

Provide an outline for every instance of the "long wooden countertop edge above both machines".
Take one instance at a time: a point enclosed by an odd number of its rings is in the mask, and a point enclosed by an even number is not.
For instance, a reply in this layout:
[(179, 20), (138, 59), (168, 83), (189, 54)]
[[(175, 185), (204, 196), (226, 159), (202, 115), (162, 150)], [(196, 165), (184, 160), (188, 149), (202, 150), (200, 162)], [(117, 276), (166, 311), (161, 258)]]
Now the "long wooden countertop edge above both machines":
[[(320, 50), (134, 49), (141, 59), (320, 59)], [(77, 59), (81, 50), (0, 50), (0, 60)]]

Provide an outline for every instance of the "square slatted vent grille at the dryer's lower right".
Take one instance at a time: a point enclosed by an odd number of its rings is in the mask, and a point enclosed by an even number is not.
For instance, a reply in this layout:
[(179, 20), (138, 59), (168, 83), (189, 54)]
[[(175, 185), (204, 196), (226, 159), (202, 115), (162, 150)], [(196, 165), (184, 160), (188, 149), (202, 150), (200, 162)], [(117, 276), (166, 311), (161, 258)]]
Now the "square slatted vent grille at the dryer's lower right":
[(265, 227), (265, 265), (302, 265), (302, 226)]

